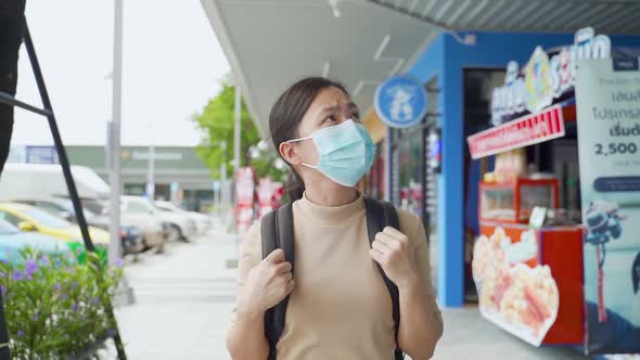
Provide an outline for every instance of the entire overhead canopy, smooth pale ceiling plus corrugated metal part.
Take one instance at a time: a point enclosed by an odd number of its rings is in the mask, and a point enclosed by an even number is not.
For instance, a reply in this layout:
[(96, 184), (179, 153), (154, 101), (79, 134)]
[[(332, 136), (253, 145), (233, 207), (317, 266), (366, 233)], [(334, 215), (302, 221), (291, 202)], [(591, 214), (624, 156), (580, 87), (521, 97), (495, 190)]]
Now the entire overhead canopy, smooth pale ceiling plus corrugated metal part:
[(263, 138), (272, 103), (296, 79), (340, 79), (367, 114), (380, 82), (440, 31), (640, 34), (636, 0), (201, 1)]

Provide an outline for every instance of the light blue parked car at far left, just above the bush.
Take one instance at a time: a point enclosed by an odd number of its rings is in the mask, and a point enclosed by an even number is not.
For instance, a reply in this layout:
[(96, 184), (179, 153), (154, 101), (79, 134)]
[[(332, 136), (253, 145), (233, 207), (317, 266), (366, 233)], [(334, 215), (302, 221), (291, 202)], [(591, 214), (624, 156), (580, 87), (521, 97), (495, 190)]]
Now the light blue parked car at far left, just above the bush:
[(39, 233), (22, 232), (9, 221), (0, 219), (0, 260), (12, 263), (22, 262), (21, 252), (33, 248), (43, 254), (68, 254), (71, 248), (62, 240)]

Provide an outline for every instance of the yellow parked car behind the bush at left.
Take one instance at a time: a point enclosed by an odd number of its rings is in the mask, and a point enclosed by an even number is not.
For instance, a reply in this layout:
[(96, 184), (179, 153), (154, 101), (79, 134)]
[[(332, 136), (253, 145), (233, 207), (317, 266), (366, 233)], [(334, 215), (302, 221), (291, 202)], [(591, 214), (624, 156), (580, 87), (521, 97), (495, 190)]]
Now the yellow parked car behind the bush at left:
[[(0, 219), (9, 221), (25, 232), (39, 232), (63, 240), (74, 250), (78, 247), (84, 248), (82, 233), (78, 226), (37, 207), (18, 203), (0, 203)], [(102, 229), (89, 227), (89, 235), (95, 245), (98, 254), (103, 259), (106, 258), (108, 233)]]

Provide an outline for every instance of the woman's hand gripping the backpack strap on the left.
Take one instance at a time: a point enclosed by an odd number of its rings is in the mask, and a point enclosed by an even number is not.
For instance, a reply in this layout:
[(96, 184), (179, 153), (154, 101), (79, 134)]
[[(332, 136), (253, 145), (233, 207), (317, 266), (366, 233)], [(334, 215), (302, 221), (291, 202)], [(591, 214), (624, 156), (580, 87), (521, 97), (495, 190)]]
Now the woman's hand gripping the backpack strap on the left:
[(280, 303), (295, 285), (291, 270), (282, 249), (269, 254), (249, 270), (236, 311), (259, 316)]

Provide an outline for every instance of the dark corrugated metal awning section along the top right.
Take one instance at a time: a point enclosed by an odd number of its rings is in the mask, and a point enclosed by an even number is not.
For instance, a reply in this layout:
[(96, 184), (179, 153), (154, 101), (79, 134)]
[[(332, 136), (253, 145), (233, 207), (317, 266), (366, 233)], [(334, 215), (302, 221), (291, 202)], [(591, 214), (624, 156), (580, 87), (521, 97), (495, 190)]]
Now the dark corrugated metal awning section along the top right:
[(367, 0), (446, 29), (640, 34), (637, 0)]

